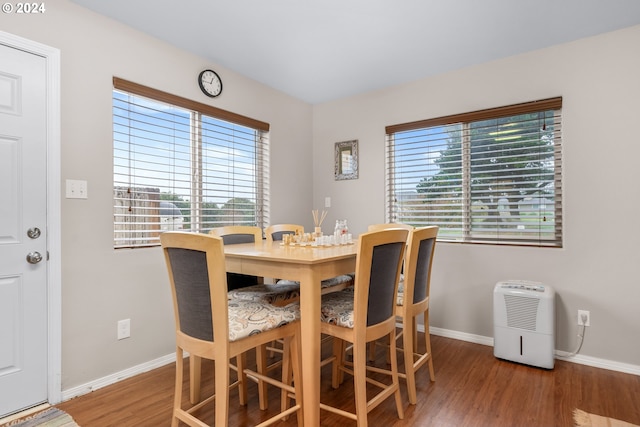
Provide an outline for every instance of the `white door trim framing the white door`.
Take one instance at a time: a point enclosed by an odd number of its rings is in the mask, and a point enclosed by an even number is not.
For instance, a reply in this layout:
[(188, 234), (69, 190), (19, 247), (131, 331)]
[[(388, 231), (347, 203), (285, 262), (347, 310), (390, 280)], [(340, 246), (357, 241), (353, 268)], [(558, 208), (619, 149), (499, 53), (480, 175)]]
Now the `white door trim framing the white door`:
[(42, 56), (47, 80), (48, 400), (62, 391), (62, 256), (60, 236), (60, 50), (0, 31), (0, 43)]

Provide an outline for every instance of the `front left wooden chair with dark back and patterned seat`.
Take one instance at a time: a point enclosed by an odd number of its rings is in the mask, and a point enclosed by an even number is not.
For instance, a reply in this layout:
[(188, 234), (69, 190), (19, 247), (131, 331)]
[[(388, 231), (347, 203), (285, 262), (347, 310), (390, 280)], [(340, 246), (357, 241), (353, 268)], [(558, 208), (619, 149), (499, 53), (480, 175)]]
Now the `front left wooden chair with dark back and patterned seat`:
[[(171, 283), (176, 324), (176, 385), (171, 426), (177, 427), (180, 421), (192, 427), (206, 426), (194, 413), (214, 399), (215, 426), (227, 426), (229, 388), (242, 387), (247, 375), (278, 386), (296, 397), (296, 405), (260, 426), (298, 411), (301, 407), (299, 309), (273, 307), (255, 301), (229, 301), (223, 242), (219, 237), (165, 232), (160, 235), (160, 242)], [(260, 316), (256, 316), (257, 313)], [(241, 362), (246, 351), (276, 339), (284, 339), (287, 343), (288, 351), (283, 355), (284, 382), (250, 371)], [(188, 409), (182, 408), (185, 351), (197, 359), (215, 361), (215, 394)], [(239, 361), (238, 380), (229, 384), (229, 360), (234, 357)], [(289, 364), (293, 371), (293, 386), (288, 385)]]

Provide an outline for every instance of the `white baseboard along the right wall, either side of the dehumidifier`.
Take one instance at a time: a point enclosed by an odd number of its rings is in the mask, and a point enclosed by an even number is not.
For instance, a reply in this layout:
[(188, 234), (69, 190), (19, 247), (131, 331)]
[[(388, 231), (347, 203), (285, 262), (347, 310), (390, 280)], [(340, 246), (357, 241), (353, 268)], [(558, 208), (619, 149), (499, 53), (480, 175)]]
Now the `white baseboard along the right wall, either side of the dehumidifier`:
[[(424, 332), (424, 325), (418, 324), (418, 331)], [(467, 334), (464, 332), (452, 331), (449, 329), (434, 328), (433, 326), (429, 328), (429, 331), (431, 331), (431, 334), (433, 335), (493, 347), (493, 338), (491, 337)], [(580, 365), (592, 366), (594, 368), (608, 369), (610, 371), (617, 371), (625, 374), (640, 375), (640, 365), (632, 365), (629, 363), (616, 362), (614, 360), (600, 359), (591, 356), (583, 356), (580, 354), (577, 354), (573, 357), (568, 357), (569, 354), (571, 353), (562, 350), (555, 350), (555, 358), (558, 360), (564, 360), (565, 362), (577, 363)]]

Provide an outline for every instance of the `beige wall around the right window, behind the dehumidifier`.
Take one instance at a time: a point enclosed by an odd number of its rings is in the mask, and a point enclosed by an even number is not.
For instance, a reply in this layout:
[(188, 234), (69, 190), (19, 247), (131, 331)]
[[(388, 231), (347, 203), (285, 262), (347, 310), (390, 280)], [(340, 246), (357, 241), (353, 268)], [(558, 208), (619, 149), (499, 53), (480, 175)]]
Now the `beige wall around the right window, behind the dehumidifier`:
[[(574, 349), (577, 310), (590, 310), (581, 356), (638, 369), (639, 46), (633, 27), (315, 106), (314, 202), (331, 197), (328, 221), (361, 233), (385, 221), (386, 125), (562, 96), (564, 248), (439, 243), (432, 326), (492, 337), (495, 283), (537, 280), (557, 292), (557, 349)], [(333, 144), (350, 139), (360, 178), (334, 181)]]

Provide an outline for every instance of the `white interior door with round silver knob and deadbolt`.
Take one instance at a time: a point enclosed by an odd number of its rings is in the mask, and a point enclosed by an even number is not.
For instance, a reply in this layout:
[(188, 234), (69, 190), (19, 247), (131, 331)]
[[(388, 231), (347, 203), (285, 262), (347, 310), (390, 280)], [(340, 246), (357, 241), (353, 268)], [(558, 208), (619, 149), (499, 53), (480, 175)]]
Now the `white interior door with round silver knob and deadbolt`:
[(46, 59), (0, 44), (0, 417), (47, 401)]

